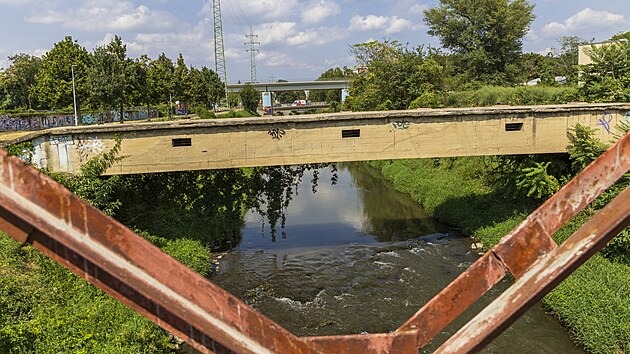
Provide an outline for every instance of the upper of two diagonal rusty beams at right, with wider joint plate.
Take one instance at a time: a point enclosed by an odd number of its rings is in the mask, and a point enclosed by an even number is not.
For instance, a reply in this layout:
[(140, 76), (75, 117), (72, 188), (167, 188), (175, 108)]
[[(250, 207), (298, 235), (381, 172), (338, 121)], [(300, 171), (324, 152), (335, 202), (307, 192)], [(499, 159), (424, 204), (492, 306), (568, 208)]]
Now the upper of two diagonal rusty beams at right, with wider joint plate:
[[(519, 278), (540, 257), (555, 249), (551, 235), (629, 169), (630, 134), (626, 134), (433, 297), (397, 332), (417, 330), (418, 346), (425, 346), (503, 277), (503, 274), (498, 277), (498, 269), (507, 269)], [(490, 258), (496, 259), (496, 264), (490, 266)], [(484, 274), (486, 270), (490, 274)], [(473, 279), (483, 286), (475, 285)]]

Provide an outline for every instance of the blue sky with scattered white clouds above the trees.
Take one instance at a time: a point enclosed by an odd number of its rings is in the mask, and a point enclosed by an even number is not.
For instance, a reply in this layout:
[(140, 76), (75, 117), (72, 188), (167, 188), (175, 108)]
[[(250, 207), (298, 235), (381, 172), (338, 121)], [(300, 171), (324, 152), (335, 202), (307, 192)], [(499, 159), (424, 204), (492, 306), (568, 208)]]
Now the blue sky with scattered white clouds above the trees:
[[(253, 33), (256, 79), (312, 80), (332, 67), (352, 67), (352, 44), (397, 40), (440, 47), (427, 34), (423, 10), (438, 0), (223, 0), (228, 82), (250, 80), (247, 34)], [(562, 36), (603, 41), (630, 31), (630, 1), (530, 0), (535, 20), (524, 52), (547, 53)], [(214, 69), (212, 1), (0, 0), (0, 68), (9, 55), (41, 56), (65, 36), (92, 51), (122, 37), (132, 58), (182, 53), (188, 65)]]

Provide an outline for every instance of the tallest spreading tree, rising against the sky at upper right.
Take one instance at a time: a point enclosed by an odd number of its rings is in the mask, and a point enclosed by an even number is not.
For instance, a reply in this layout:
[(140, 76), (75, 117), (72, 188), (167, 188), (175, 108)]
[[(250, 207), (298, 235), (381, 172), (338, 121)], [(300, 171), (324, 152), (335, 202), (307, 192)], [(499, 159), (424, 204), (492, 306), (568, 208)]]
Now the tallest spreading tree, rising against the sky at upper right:
[(430, 35), (458, 54), (470, 79), (513, 83), (532, 10), (526, 0), (440, 0), (424, 11), (424, 22)]

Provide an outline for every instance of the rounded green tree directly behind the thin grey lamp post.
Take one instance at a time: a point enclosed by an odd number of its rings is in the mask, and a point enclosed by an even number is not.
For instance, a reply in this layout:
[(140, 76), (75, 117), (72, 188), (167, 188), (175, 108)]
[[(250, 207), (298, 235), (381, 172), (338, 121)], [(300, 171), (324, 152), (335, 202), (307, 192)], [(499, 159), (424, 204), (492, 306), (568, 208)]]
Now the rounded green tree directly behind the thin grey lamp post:
[(40, 70), (35, 76), (37, 82), (35, 92), (44, 108), (64, 109), (72, 106), (72, 66), (74, 66), (77, 109), (80, 111), (82, 102), (90, 99), (90, 85), (87, 78), (90, 63), (90, 54), (72, 37), (67, 36), (63, 41), (55, 43), (53, 48), (42, 57)]

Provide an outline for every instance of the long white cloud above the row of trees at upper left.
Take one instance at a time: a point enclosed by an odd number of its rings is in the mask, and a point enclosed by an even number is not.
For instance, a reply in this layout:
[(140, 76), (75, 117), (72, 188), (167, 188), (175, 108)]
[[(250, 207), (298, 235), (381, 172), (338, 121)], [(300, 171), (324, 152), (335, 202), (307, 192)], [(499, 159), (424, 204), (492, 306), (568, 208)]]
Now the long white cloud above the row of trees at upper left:
[(63, 11), (49, 8), (42, 12), (40, 9), (25, 20), (88, 32), (160, 31), (168, 30), (175, 24), (173, 16), (167, 12), (119, 0), (89, 0)]

